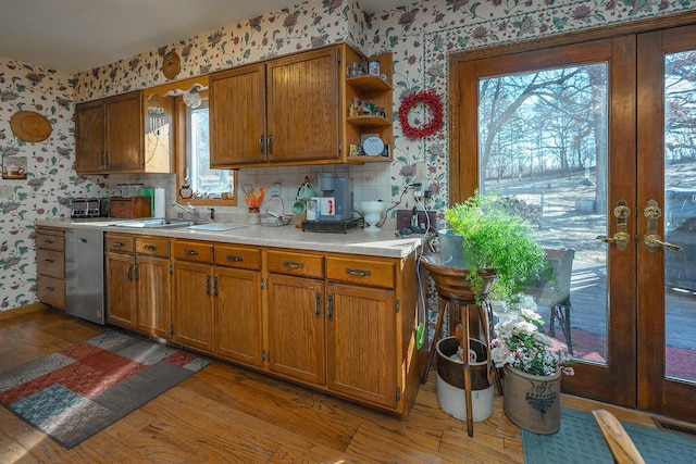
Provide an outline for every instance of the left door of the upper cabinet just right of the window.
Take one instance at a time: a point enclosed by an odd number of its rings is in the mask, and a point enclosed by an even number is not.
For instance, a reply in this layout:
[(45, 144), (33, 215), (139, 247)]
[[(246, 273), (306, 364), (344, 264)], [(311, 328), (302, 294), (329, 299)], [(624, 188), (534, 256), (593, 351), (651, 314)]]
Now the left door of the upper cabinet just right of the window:
[(265, 66), (210, 76), (210, 164), (265, 161)]

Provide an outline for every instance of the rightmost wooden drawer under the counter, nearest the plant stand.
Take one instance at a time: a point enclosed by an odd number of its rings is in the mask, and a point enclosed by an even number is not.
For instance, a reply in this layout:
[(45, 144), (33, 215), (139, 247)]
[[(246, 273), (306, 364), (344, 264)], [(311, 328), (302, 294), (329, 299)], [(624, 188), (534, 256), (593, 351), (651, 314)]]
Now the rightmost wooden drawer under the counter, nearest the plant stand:
[(326, 258), (326, 277), (334, 281), (394, 288), (395, 272), (393, 262)]

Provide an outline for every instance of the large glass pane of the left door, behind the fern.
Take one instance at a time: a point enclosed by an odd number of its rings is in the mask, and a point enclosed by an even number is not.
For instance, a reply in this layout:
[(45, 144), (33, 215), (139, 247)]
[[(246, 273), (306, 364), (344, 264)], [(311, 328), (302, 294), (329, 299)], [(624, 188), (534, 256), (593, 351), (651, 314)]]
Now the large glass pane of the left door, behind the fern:
[[(527, 293), (543, 330), (607, 362), (608, 64), (478, 81), (480, 189), (519, 200), (547, 250)], [(613, 206), (611, 206), (613, 209)]]

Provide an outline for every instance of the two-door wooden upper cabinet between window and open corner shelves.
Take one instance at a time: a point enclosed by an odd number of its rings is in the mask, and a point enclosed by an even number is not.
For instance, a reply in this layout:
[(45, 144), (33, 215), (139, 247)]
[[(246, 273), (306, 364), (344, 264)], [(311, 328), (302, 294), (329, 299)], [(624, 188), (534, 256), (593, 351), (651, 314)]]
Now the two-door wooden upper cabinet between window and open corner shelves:
[(212, 74), (211, 165), (338, 162), (339, 48)]

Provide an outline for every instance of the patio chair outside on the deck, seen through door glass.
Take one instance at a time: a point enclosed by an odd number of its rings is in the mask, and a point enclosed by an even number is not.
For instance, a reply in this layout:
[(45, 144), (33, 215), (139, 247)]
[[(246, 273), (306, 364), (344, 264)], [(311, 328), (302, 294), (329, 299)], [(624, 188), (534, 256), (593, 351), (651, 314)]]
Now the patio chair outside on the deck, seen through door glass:
[(573, 354), (573, 340), (570, 331), (570, 279), (573, 274), (575, 250), (558, 248), (546, 250), (546, 266), (537, 279), (531, 280), (524, 290), (534, 297), (538, 306), (550, 309), (548, 335), (556, 336), (556, 321), (563, 335), (568, 352)]

